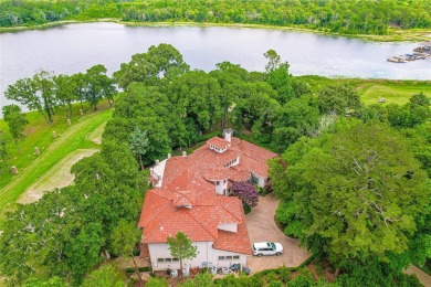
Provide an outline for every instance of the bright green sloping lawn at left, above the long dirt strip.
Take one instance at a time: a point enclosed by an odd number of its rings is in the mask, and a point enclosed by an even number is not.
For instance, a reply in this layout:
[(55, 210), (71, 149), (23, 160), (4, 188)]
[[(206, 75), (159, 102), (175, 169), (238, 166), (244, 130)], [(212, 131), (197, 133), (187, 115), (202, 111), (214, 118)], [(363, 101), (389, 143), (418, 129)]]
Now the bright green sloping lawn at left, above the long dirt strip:
[[(54, 124), (46, 124), (43, 117), (35, 111), (28, 114), (30, 121), (28, 137), (22, 142), (21, 153), (12, 149), (9, 163), (17, 166), (19, 174), (11, 176), (2, 169), (0, 174), (0, 219), (6, 211), (15, 205), (17, 199), (39, 178), (53, 168), (59, 161), (77, 149), (97, 148), (98, 146), (88, 138), (94, 130), (104, 125), (112, 117), (112, 109), (107, 104), (99, 105), (99, 110), (90, 108), (84, 116), (78, 113), (78, 106), (74, 106), (72, 126), (63, 113), (54, 118)], [(0, 129), (7, 129), (3, 120), (0, 120)], [(59, 137), (53, 139), (52, 131)], [(39, 147), (41, 155), (34, 155), (34, 147)], [(1, 162), (2, 163), (2, 162)]]

